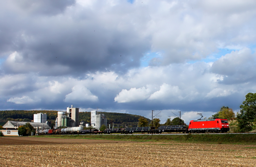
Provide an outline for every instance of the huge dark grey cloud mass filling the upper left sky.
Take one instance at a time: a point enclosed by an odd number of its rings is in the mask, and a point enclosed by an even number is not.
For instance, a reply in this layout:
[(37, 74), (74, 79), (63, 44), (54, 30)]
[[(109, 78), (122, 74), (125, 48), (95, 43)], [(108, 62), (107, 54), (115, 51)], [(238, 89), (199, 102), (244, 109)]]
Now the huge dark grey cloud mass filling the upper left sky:
[[(106, 18), (103, 11), (92, 11), (89, 7), (64, 10), (70, 2), (63, 2), (62, 6), (47, 4), (50, 1), (28, 6), (19, 2), (18, 7), (23, 4), (21, 11), (13, 11), (12, 21), (3, 18), (5, 21), (0, 25), (1, 37), (5, 39), (0, 47), (7, 48), (0, 53), (6, 56), (6, 53), (17, 52), (19, 59), (9, 60), (2, 70), (63, 75), (97, 70), (126, 71), (140, 65), (143, 53), (150, 49), (150, 38), (143, 37), (141, 31), (132, 26), (132, 18), (126, 18), (123, 23), (122, 16), (126, 13), (117, 16), (118, 7), (113, 7), (113, 13), (106, 13), (109, 15)], [(40, 16), (30, 13), (30, 10), (37, 11), (34, 8), (44, 9), (44, 5), (48, 8), (41, 11)], [(57, 6), (59, 9), (54, 10)], [(59, 12), (46, 15), (51, 11)], [(9, 15), (7, 10), (2, 13)]]

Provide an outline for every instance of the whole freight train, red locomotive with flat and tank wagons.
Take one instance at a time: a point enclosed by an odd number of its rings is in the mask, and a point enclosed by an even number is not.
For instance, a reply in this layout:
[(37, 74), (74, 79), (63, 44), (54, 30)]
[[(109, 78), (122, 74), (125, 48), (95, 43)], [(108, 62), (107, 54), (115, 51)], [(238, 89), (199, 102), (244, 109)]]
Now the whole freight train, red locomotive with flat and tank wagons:
[(83, 129), (82, 127), (68, 127), (60, 129), (39, 130), (38, 135), (54, 134), (132, 134), (132, 133), (162, 133), (162, 132), (183, 132), (183, 133), (205, 133), (205, 132), (228, 132), (229, 124), (227, 119), (199, 119), (191, 120), (189, 125), (169, 125), (155, 127), (127, 127), (112, 128), (99, 131), (97, 129)]

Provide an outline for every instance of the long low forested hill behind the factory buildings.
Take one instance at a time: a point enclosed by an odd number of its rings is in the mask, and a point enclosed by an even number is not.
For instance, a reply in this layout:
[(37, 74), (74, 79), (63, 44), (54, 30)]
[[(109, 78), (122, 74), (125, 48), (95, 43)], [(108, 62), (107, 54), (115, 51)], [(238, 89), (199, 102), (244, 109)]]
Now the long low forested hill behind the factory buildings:
[[(9, 111), (0, 111), (0, 125), (4, 125), (8, 120), (12, 121), (31, 121), (34, 119), (34, 114), (37, 113), (46, 113), (47, 120), (54, 122), (57, 118), (57, 112), (54, 110), (9, 110)], [(107, 123), (112, 122), (114, 124), (122, 124), (120, 126), (124, 126), (125, 124), (137, 126), (138, 119), (142, 116), (140, 115), (132, 115), (132, 114), (123, 114), (123, 113), (107, 113), (101, 112), (107, 118)], [(143, 117), (145, 118), (145, 117)], [(90, 122), (91, 112), (79, 112), (79, 121), (84, 120), (85, 122)], [(149, 119), (148, 119), (149, 120)]]

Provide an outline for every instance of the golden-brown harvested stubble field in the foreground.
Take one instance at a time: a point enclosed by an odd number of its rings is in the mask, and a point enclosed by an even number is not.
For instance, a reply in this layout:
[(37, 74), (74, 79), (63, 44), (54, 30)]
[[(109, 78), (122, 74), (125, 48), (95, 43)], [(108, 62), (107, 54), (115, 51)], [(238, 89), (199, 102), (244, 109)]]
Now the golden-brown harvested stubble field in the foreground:
[[(54, 141), (52, 138), (50, 140)], [(178, 142), (116, 143), (119, 141), (97, 143), (100, 141), (1, 145), (0, 166), (248, 167), (256, 164), (255, 145)]]

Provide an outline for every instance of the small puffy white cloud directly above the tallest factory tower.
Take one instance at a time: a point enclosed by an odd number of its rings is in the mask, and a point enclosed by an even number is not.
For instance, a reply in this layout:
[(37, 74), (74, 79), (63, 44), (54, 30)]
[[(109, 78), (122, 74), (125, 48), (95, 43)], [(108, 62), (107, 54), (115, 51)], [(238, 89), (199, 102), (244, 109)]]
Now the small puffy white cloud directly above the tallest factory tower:
[(65, 102), (96, 102), (98, 97), (93, 95), (91, 91), (82, 85), (76, 85), (72, 88), (72, 92), (65, 96)]

